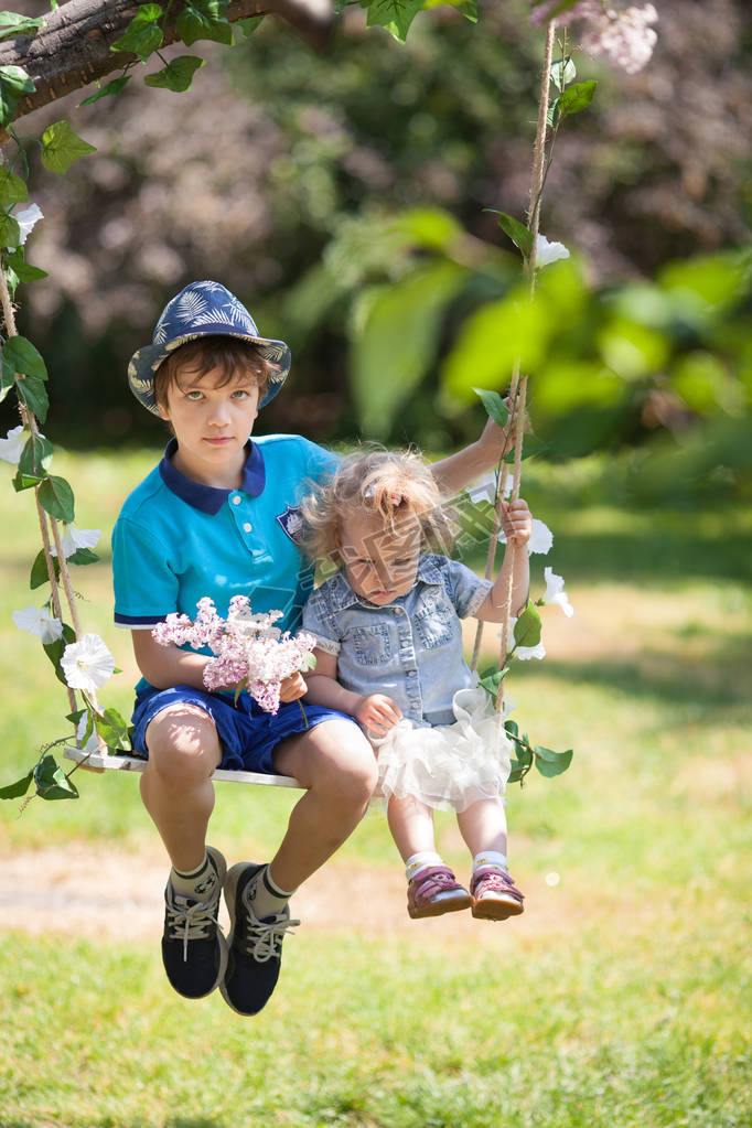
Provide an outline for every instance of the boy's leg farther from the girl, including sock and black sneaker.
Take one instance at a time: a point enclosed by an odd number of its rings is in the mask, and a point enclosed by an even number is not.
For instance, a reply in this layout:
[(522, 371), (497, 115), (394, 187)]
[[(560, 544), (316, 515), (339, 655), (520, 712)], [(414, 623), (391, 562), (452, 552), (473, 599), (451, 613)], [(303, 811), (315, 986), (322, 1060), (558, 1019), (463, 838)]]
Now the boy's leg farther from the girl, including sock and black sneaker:
[(149, 763), (141, 796), (172, 862), (165, 890), (162, 961), (180, 995), (202, 998), (223, 978), (228, 955), (216, 923), (227, 865), (219, 851), (205, 845), (220, 743), (212, 719), (187, 704), (158, 713), (145, 739)]

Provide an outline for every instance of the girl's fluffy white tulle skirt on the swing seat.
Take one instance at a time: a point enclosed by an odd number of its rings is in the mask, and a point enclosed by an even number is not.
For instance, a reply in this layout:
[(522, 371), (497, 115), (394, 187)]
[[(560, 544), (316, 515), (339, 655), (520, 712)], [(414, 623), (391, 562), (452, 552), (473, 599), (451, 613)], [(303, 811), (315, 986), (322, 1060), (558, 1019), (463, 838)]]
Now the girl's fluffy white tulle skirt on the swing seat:
[(402, 719), (386, 737), (371, 737), (384, 801), (413, 795), (439, 810), (465, 811), (504, 794), (512, 744), (488, 695), (460, 689), (452, 710), (452, 724), (418, 728)]

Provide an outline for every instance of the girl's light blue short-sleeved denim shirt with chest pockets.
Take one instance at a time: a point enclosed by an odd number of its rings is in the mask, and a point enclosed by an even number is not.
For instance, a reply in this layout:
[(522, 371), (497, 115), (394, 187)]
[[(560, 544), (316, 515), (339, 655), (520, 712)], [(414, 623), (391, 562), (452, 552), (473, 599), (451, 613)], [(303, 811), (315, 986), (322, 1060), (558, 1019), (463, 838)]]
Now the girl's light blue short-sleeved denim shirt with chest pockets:
[(478, 610), (492, 587), (459, 561), (424, 555), (407, 594), (375, 607), (338, 572), (310, 596), (303, 629), (336, 655), (345, 689), (386, 694), (417, 725), (450, 724), (454, 694), (476, 682), (460, 619)]

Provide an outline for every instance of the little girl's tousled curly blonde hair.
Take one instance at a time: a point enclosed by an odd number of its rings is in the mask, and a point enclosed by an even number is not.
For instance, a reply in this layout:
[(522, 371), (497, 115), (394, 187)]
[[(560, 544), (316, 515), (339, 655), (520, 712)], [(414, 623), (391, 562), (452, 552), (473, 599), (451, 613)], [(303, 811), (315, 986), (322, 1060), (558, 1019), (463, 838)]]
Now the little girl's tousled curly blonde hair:
[(372, 518), (381, 528), (399, 531), (417, 519), (424, 545), (448, 552), (452, 544), (450, 515), (436, 482), (413, 450), (370, 450), (350, 455), (328, 484), (317, 485), (301, 502), (302, 548), (311, 557), (340, 564), (337, 534), (343, 519)]

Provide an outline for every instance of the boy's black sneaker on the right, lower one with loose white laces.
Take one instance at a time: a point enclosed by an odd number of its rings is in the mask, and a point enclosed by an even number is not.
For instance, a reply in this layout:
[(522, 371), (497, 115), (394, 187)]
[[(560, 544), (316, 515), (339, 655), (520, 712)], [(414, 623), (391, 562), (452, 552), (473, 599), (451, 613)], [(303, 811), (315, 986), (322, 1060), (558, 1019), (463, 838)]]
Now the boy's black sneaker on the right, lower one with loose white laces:
[(224, 882), (224, 899), (230, 913), (230, 958), (220, 990), (224, 1002), (238, 1014), (258, 1014), (268, 1002), (280, 978), (282, 941), (287, 928), (300, 920), (282, 913), (258, 919), (249, 904), (249, 892), (264, 865), (240, 862)]

